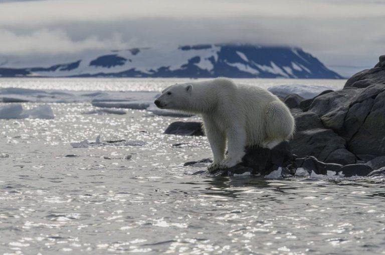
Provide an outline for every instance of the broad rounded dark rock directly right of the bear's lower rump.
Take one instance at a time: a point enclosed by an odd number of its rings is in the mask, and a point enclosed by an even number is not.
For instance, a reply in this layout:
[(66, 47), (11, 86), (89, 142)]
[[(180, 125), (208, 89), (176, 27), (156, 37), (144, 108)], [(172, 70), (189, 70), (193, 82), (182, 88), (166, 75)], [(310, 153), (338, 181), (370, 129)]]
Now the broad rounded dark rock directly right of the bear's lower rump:
[(296, 132), (289, 143), (297, 156), (315, 156), (324, 161), (334, 150), (345, 148), (346, 142), (333, 130), (318, 128)]

